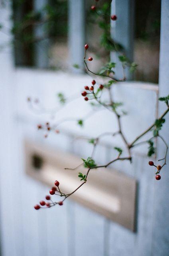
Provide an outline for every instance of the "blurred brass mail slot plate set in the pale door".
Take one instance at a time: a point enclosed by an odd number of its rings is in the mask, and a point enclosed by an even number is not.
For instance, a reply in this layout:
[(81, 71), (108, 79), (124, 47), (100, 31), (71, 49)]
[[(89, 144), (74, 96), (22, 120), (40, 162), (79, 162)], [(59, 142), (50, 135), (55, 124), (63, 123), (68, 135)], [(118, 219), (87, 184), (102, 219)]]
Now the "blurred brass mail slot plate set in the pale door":
[[(49, 186), (59, 180), (60, 188), (65, 194), (81, 184), (78, 172), (86, 172), (83, 166), (76, 170), (64, 169), (81, 164), (79, 157), (33, 141), (25, 142), (25, 157), (28, 175)], [(135, 179), (113, 169), (91, 169), (86, 184), (71, 198), (135, 231)]]

